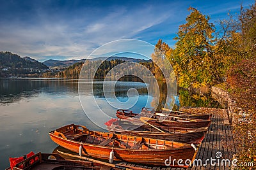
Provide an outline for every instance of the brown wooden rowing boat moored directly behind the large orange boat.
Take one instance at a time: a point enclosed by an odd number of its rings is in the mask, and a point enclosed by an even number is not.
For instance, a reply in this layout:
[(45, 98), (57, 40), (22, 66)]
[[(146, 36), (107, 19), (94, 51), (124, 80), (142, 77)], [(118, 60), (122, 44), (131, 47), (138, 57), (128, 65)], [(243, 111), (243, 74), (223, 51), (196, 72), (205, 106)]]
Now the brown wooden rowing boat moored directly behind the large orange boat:
[(127, 134), (131, 136), (140, 136), (146, 138), (163, 139), (168, 141), (177, 141), (182, 143), (200, 144), (207, 132), (208, 127), (200, 129), (189, 129), (180, 127), (156, 126), (157, 129), (150, 125), (141, 125), (140, 127), (127, 121), (111, 119), (105, 123), (109, 132), (118, 134)]

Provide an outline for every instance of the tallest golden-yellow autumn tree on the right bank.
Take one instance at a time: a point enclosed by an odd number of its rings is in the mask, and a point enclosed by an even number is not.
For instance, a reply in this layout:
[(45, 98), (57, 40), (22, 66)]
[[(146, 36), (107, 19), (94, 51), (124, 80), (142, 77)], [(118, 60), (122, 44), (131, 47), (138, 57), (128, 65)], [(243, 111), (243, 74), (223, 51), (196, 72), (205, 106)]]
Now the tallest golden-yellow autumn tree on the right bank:
[(171, 57), (175, 60), (173, 67), (178, 74), (180, 87), (212, 85), (221, 81), (216, 66), (220, 62), (214, 55), (214, 24), (209, 22), (209, 16), (202, 15), (195, 8), (189, 10), (191, 13), (186, 18), (187, 23), (180, 25), (175, 38), (177, 43)]

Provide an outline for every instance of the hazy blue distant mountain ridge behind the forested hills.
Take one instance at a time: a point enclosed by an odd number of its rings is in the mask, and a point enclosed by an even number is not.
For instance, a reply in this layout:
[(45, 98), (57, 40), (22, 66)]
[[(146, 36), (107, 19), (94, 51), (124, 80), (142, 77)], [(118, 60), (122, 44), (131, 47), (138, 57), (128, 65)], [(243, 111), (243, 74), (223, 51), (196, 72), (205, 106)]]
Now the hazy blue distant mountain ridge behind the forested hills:
[[(88, 60), (104, 60), (108, 57), (97, 57), (94, 59), (88, 59)], [(126, 62), (151, 62), (152, 60), (143, 60), (143, 59), (134, 59), (134, 58), (128, 58), (128, 57), (109, 57), (107, 60), (124, 60)], [(49, 67), (68, 67), (68, 66), (72, 66), (73, 64), (77, 63), (77, 62), (84, 62), (85, 59), (81, 59), (81, 60), (46, 60), (43, 62), (43, 64), (45, 64), (46, 66)]]

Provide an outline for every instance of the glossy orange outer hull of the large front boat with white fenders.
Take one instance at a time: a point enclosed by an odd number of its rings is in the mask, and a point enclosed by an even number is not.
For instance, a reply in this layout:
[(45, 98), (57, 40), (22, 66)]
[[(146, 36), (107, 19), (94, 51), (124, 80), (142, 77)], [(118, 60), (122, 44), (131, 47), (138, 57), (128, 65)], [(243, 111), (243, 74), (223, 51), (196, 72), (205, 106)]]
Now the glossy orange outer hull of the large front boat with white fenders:
[[(83, 148), (82, 149), (83, 155), (89, 155), (90, 157), (108, 160), (109, 153), (113, 150), (115, 155), (114, 160), (132, 162), (135, 164), (143, 164), (143, 165), (150, 165), (150, 166), (166, 166), (164, 162), (166, 160), (169, 160), (170, 157), (172, 159), (176, 159), (176, 160), (182, 159), (184, 161), (186, 159), (189, 159), (193, 162), (197, 153), (197, 150), (195, 151), (195, 149), (188, 144), (184, 145), (186, 147), (182, 145), (182, 147), (180, 148), (166, 148), (166, 149), (159, 149), (159, 150), (154, 150), (154, 149), (153, 150), (151, 149), (132, 150), (132, 149), (125, 149), (125, 148), (115, 148), (115, 147), (113, 148), (111, 146), (99, 146), (99, 145), (93, 145), (88, 143), (81, 143), (79, 141), (74, 141), (72, 139), (65, 139), (65, 136), (60, 134), (60, 132), (56, 132), (56, 131), (49, 132), (49, 135), (52, 141), (62, 146), (63, 148), (67, 148), (68, 150), (71, 150), (72, 152), (79, 153), (79, 147), (81, 145)], [(124, 136), (124, 138), (132, 138), (134, 139), (134, 143), (135, 143), (135, 139), (138, 137)], [(143, 139), (148, 141), (148, 143), (149, 141), (154, 141), (154, 139), (150, 139), (150, 138), (143, 138)], [(179, 145), (179, 143), (177, 143), (177, 145)], [(179, 166), (177, 162), (175, 162), (175, 164), (172, 164), (170, 166), (185, 167), (185, 168), (188, 167), (187, 165)]]

